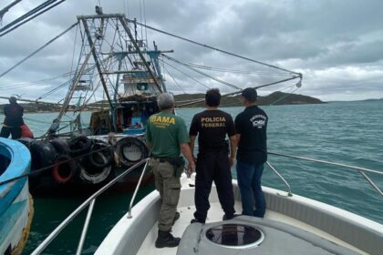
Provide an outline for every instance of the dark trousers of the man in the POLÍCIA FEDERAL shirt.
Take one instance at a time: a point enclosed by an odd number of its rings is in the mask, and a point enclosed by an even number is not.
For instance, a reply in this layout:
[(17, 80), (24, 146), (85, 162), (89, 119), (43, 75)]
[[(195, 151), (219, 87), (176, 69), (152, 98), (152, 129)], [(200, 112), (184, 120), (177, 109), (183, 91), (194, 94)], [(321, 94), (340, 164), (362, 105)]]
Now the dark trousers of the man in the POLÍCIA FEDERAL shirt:
[(235, 210), (232, 172), (230, 171), (227, 150), (198, 154), (196, 173), (194, 193), (196, 211), (194, 218), (202, 223), (206, 221), (207, 212), (210, 209), (209, 195), (213, 180), (226, 218), (233, 218)]

